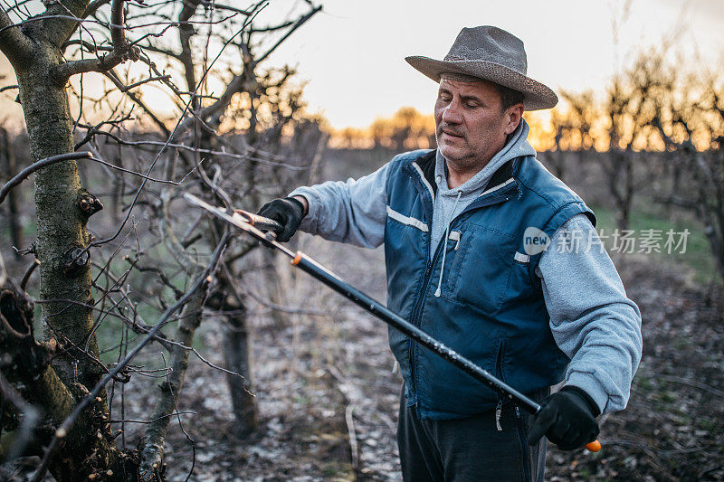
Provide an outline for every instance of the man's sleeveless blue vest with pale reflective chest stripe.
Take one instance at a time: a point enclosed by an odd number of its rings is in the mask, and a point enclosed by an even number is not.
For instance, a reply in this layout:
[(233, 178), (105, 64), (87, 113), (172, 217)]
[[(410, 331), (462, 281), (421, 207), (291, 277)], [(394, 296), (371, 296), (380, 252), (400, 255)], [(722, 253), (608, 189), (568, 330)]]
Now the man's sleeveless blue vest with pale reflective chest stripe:
[[(430, 261), (434, 151), (396, 156), (387, 177), (387, 306), (524, 393), (563, 379), (569, 362), (548, 327), (548, 310), (526, 254), (524, 233), (548, 236), (577, 213), (593, 212), (533, 156), (502, 165), (450, 225)], [(529, 231), (530, 232), (530, 231)], [(447, 250), (442, 294), (434, 296)], [(408, 405), (422, 419), (460, 419), (491, 410), (490, 388), (415, 345), (395, 329), (389, 343), (405, 379)]]

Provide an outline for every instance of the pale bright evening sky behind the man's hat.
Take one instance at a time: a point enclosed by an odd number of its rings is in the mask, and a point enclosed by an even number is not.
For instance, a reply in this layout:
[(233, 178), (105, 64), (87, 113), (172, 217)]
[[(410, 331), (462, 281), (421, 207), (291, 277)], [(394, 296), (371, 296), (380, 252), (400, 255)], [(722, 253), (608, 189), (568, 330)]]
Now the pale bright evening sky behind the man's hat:
[[(529, 76), (554, 90), (602, 90), (636, 52), (663, 39), (673, 39), (672, 52), (698, 68), (724, 64), (724, 0), (319, 2), (323, 10), (273, 53), (269, 65), (296, 66), (307, 82), (310, 109), (334, 128), (363, 128), (403, 106), (431, 113), (437, 84), (405, 56), (442, 59), (464, 26), (491, 24), (519, 36)], [(260, 23), (279, 21), (295, 5), (306, 9), (301, 0), (270, 0)], [(7, 61), (0, 55), (3, 72)], [(0, 79), (0, 86), (9, 80)], [(0, 94), (0, 118), (20, 113), (12, 102), (16, 92)]]

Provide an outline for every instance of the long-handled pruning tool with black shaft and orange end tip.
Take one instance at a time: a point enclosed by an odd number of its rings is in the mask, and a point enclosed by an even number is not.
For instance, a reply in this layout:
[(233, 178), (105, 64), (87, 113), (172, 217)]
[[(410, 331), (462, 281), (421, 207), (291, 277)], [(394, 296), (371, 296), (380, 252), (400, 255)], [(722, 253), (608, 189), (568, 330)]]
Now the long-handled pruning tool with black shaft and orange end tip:
[[(281, 229), (281, 225), (278, 222), (263, 218), (257, 214), (246, 213), (241, 210), (229, 212), (222, 208), (212, 206), (209, 203), (205, 203), (193, 194), (184, 194), (184, 197), (189, 203), (204, 208), (206, 211), (213, 213), (216, 217), (223, 219), (225, 222), (230, 222), (243, 232), (250, 234), (253, 238), (262, 241), (263, 245), (280, 250), (291, 258), (291, 264), (297, 268), (309, 273), (314, 278), (319, 279), (319, 281), (329, 286), (329, 288), (334, 289), (340, 295), (348, 298), (348, 300), (352, 301), (357, 306), (362, 307), (362, 309), (366, 310), (368, 313), (378, 317), (387, 325), (392, 326), (404, 335), (409, 336), (415, 343), (423, 345), (434, 354), (443, 357), (443, 359), (457, 366), (463, 372), (471, 375), (475, 380), (485, 383), (493, 391), (500, 393), (500, 395), (511, 401), (519, 403), (524, 410), (529, 411), (533, 415), (541, 410), (541, 406), (538, 402), (531, 400), (523, 393), (511, 387), (508, 383), (502, 382), (495, 376), (491, 375), (491, 373), (483, 370), (480, 366), (473, 364), (470, 360), (462, 356), (462, 354), (458, 354), (452, 350), (452, 348), (435, 340), (432, 336), (427, 335), (423, 330), (409, 323), (405, 320), (405, 318), (400, 317), (395, 312), (388, 309), (385, 305), (379, 303), (373, 298), (370, 298), (359, 289), (349, 285), (336, 274), (320, 265), (317, 261), (312, 260), (303, 252), (294, 252), (290, 250), (280, 242), (276, 241), (271, 232), (263, 232), (265, 230), (272, 231)], [(586, 449), (592, 452), (597, 452), (601, 449), (601, 442), (598, 440), (589, 442), (586, 444)]]

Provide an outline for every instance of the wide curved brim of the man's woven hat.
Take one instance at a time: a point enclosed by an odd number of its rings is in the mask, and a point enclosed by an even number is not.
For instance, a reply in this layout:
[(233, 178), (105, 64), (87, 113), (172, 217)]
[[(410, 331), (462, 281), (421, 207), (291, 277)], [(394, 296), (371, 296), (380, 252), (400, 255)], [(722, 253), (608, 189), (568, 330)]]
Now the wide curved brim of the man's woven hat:
[(462, 73), (518, 90), (525, 96), (526, 110), (550, 109), (558, 103), (556, 93), (548, 86), (491, 61), (436, 61), (420, 55), (405, 57), (405, 61), (436, 82), (443, 73)]

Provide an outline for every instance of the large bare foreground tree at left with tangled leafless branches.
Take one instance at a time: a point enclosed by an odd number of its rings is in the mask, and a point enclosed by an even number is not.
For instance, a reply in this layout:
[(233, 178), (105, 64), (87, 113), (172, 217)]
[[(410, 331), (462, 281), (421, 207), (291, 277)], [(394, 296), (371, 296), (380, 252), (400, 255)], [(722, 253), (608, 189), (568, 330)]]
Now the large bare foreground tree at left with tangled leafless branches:
[[(294, 72), (262, 71), (259, 65), (320, 7), (304, 4), (306, 10), (260, 26), (257, 16), (265, 5), (242, 9), (205, 1), (62, 0), (46, 4), (40, 14), (28, 9), (39, 5), (23, 3), (0, 10), (0, 50), (15, 71), (35, 161), (3, 186), (0, 203), (34, 174), (38, 239), (24, 252), (40, 261), (34, 301), (41, 306), (43, 329), (38, 342), (33, 299), (24, 291), (29, 271), (20, 287), (8, 281), (0, 295), (5, 354), (0, 371), (7, 380), (0, 383), (3, 402), (10, 401), (3, 410), (12, 412), (3, 417), (12, 431), (2, 433), (7, 443), (0, 444), (13, 448), (2, 454), (13, 456), (5, 457), (7, 477), (17, 472), (13, 462), (18, 454), (41, 457), (32, 476), (36, 480), (48, 468), (61, 482), (165, 477), (164, 440), (170, 420), (178, 416), (189, 355), (201, 357), (192, 342), (206, 306), (218, 311), (232, 334), (239, 334), (230, 336), (236, 343), (228, 354), (241, 357), (227, 356), (231, 366), (224, 371), (233, 393), (249, 394), (243, 384), (243, 375), (249, 378), (251, 372), (243, 336), (246, 293), (239, 282), (240, 260), (252, 245), (230, 240), (217, 223), (188, 219), (176, 199), (183, 190), (195, 190), (227, 206), (243, 196), (244, 205), (256, 205), (265, 185), (280, 184), (282, 166), (310, 169), (313, 156), (289, 156), (287, 150), (300, 142), (289, 140), (295, 134), (309, 136), (300, 130), (307, 122), (300, 90), (289, 85)], [(175, 30), (177, 43), (167, 40)], [(144, 67), (121, 69), (124, 61)], [(161, 64), (167, 67), (159, 68)], [(84, 74), (90, 72), (110, 82), (99, 99), (85, 93)], [(176, 72), (185, 88), (177, 87)], [(164, 92), (171, 112), (152, 107), (139, 89), (147, 84)], [(105, 118), (93, 118), (91, 104)], [(147, 127), (140, 128), (138, 121)], [(319, 128), (317, 132), (319, 137)], [(81, 148), (86, 151), (77, 152)], [(114, 211), (125, 214), (101, 224), (104, 235), (87, 227), (90, 216), (103, 208), (102, 195), (81, 185), (79, 159), (107, 169), (115, 179)], [(85, 172), (84, 177), (92, 174)], [(138, 183), (126, 181), (129, 175)], [(151, 220), (148, 232), (139, 232), (133, 215), (139, 211)], [(121, 251), (127, 251), (125, 268), (119, 264)], [(164, 254), (149, 260), (149, 252)], [(138, 299), (129, 293), (132, 279), (153, 285), (150, 298), (140, 300), (155, 311), (153, 323), (144, 320)], [(114, 364), (101, 358), (96, 339), (109, 319), (117, 320), (122, 334)], [(168, 336), (172, 323), (176, 335)], [(155, 408), (148, 413), (137, 451), (126, 446), (124, 420), (120, 431), (113, 431), (117, 422), (110, 409), (116, 387), (122, 392), (131, 376), (144, 374), (130, 362), (151, 342), (167, 350), (170, 359), (164, 362)], [(43, 413), (32, 444), (26, 431), (18, 432), (20, 425), (12, 423), (27, 419), (27, 406), (19, 402), (23, 399)], [(255, 423), (249, 400), (238, 402), (242, 432)]]

